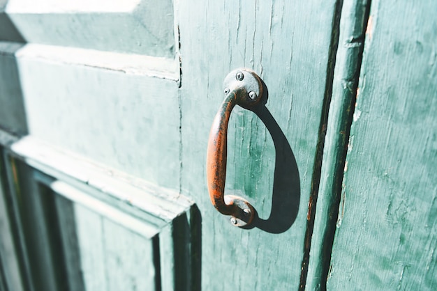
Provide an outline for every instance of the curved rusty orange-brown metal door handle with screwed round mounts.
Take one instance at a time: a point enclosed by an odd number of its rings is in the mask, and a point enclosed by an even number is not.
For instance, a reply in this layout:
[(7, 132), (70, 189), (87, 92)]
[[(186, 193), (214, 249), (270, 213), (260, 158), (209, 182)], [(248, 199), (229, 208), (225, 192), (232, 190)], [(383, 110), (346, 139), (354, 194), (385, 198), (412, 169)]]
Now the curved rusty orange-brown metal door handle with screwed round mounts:
[(246, 199), (224, 195), (226, 160), (228, 150), (228, 123), (235, 105), (252, 109), (262, 99), (262, 81), (255, 72), (241, 68), (233, 70), (223, 81), (225, 100), (209, 132), (207, 149), (207, 184), (212, 205), (221, 214), (230, 215), (234, 226), (248, 226), (255, 216), (255, 209)]

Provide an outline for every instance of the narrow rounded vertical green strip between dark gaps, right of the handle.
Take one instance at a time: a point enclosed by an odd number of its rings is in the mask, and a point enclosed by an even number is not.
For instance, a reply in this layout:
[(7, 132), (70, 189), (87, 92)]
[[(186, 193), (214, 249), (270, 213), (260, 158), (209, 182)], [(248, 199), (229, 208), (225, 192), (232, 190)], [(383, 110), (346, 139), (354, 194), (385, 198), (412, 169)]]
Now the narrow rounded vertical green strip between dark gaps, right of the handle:
[(369, 2), (343, 1), (306, 290), (325, 290), (341, 197), (350, 124), (360, 76)]

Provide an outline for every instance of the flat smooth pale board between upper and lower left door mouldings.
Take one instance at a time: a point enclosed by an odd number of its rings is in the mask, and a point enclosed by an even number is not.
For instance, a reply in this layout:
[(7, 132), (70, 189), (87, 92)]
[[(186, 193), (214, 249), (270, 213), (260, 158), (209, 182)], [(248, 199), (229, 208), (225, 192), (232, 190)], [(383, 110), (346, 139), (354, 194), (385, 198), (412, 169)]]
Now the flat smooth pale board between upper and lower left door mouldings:
[(179, 188), (177, 81), (26, 55), (18, 63), (33, 136), (159, 186)]

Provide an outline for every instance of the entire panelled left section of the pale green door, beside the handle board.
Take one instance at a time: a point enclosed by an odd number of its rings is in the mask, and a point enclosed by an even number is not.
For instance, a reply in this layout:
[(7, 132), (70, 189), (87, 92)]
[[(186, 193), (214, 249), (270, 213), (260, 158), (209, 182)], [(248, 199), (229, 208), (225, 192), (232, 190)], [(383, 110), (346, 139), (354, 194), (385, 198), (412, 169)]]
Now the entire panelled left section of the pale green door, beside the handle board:
[(198, 285), (175, 6), (150, 2), (1, 2), (0, 290)]

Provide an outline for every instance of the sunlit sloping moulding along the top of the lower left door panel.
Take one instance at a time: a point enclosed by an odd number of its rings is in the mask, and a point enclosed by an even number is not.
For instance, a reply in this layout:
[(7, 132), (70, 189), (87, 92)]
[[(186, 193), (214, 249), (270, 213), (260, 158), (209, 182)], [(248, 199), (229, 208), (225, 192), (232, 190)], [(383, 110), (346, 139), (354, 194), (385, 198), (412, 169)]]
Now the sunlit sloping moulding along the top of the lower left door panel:
[(55, 186), (59, 186), (57, 191), (67, 198), (84, 203), (92, 201), (91, 204), (107, 203), (155, 226), (172, 221), (193, 204), (193, 201), (176, 191), (90, 162), (31, 136), (10, 144), (10, 148), (14, 155), (24, 159), (27, 164), (52, 177), (36, 175), (40, 182), (53, 187), (54, 178), (63, 181)]

